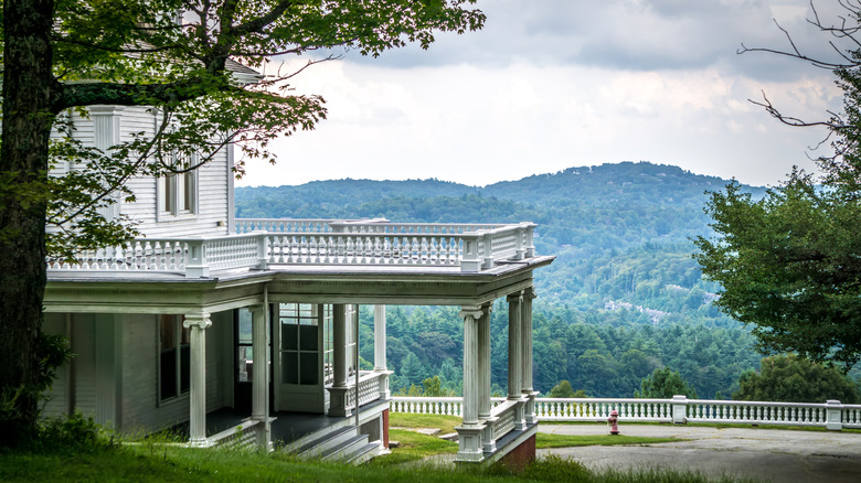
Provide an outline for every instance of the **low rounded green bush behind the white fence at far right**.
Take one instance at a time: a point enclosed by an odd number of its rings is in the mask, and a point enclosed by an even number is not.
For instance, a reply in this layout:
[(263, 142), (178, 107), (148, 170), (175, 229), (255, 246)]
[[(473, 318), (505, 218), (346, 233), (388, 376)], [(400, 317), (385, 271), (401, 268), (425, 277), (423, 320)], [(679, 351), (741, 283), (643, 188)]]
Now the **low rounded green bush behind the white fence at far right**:
[(837, 399), (859, 402), (858, 384), (836, 367), (796, 355), (765, 357), (759, 372), (742, 374), (735, 400), (774, 400), (785, 402), (822, 402)]

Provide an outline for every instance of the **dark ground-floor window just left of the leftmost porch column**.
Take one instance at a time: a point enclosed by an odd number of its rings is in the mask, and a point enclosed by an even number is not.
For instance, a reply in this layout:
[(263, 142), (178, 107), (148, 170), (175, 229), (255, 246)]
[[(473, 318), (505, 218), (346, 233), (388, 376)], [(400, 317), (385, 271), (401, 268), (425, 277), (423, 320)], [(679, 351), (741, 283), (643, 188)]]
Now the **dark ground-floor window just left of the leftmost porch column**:
[(181, 315), (159, 315), (159, 400), (187, 394), (191, 380), (191, 344)]

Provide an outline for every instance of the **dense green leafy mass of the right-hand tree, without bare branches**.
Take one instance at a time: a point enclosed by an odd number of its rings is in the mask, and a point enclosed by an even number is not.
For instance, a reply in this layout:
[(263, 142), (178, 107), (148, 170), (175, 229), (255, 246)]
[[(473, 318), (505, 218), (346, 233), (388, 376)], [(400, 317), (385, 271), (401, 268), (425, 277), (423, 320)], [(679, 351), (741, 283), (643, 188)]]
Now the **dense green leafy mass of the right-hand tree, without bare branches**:
[(720, 238), (699, 238), (697, 260), (723, 286), (715, 303), (754, 325), (761, 350), (846, 367), (861, 357), (861, 206), (851, 196), (799, 172), (759, 201), (737, 184), (712, 194)]

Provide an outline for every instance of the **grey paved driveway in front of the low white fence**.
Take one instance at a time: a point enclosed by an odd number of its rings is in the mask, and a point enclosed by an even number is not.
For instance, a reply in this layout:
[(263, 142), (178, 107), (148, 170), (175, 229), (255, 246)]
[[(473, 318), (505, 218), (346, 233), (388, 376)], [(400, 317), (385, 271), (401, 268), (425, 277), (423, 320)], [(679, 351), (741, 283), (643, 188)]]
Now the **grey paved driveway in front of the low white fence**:
[[(539, 450), (572, 457), (591, 469), (615, 466), (698, 471), (766, 482), (861, 483), (861, 433), (706, 428), (684, 425), (620, 425), (623, 434), (680, 438), (637, 447)], [(606, 434), (603, 425), (539, 425), (540, 432)]]

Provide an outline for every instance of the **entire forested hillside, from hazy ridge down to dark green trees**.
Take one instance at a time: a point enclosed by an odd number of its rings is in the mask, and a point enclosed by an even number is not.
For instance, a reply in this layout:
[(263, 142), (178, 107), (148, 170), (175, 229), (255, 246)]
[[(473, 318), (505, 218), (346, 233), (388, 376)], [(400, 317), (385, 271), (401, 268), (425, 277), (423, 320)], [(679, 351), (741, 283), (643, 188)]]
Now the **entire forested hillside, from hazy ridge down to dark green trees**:
[[(747, 331), (711, 304), (718, 288), (701, 279), (690, 242), (709, 233), (704, 192), (726, 182), (626, 162), (485, 187), (437, 180), (238, 187), (236, 211), (238, 217), (535, 222), (538, 251), (556, 256), (536, 272), (536, 389), (568, 379), (591, 396), (628, 397), (666, 365), (701, 397), (726, 397), (759, 356)], [(498, 304), (495, 325), (507, 323), (506, 310)], [(456, 310), (397, 308), (389, 318), (393, 389), (436, 374), (457, 391), (463, 337)], [(493, 341), (493, 382), (501, 389), (506, 331), (493, 333), (501, 334)]]

